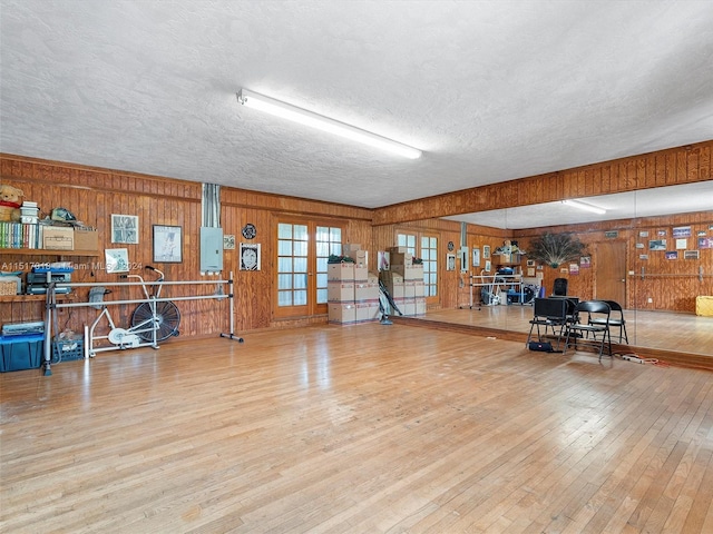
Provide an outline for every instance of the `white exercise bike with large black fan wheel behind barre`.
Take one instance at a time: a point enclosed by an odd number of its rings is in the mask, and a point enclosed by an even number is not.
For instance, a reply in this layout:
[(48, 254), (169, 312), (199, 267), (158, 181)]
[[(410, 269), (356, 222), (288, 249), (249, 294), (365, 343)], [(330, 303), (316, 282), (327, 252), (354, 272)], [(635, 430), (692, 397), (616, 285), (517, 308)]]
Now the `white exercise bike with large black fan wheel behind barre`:
[[(139, 280), (146, 301), (140, 303), (134, 313), (131, 314), (131, 326), (128, 328), (117, 327), (111, 318), (109, 308), (104, 305), (97, 305), (95, 307), (101, 308), (101, 313), (91, 324), (88, 333), (89, 342), (89, 356), (94, 357), (97, 352), (100, 350), (114, 350), (116, 348), (137, 348), (150, 346), (158, 348), (158, 343), (168, 339), (172, 336), (178, 336), (178, 326), (180, 324), (180, 312), (178, 307), (170, 300), (158, 300), (160, 298), (160, 291), (163, 288), (162, 281), (164, 281), (164, 273), (159, 269), (146, 266), (146, 270), (150, 270), (157, 274), (156, 280), (146, 281), (140, 275), (125, 275), (125, 278), (136, 278)], [(150, 291), (149, 291), (150, 286)], [(95, 287), (89, 291), (90, 303), (101, 303), (104, 295), (108, 295), (111, 291), (104, 287)], [(115, 304), (127, 304), (117, 301)], [(109, 324), (110, 330), (106, 336), (96, 336), (95, 329), (101, 319), (106, 317)], [(107, 339), (114, 347), (100, 347), (95, 348), (94, 342), (96, 339)]]

